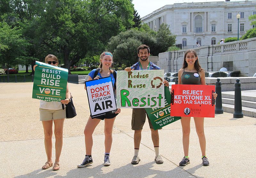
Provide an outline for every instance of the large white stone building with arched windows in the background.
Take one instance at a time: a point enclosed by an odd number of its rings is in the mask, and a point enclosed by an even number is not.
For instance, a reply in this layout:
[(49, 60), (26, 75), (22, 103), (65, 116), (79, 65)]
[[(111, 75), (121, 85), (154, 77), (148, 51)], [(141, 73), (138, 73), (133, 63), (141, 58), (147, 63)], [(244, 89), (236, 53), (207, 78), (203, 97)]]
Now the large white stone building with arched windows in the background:
[[(239, 24), (237, 14), (240, 14)], [(152, 30), (169, 25), (176, 44), (201, 46), (218, 44), (222, 38), (242, 37), (253, 28), (248, 17), (256, 14), (256, 0), (233, 2), (177, 3), (165, 5), (141, 18)], [(189, 47), (191, 48), (191, 47)]]

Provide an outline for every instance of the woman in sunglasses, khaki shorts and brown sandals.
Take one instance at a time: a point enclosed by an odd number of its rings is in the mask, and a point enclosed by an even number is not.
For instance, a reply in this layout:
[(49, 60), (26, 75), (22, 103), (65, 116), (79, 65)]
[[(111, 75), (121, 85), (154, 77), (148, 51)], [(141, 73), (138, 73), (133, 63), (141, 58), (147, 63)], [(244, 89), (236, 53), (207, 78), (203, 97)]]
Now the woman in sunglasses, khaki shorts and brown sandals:
[[(48, 63), (53, 66), (58, 66), (59, 61), (54, 55), (47, 55), (45, 57), (45, 63)], [(37, 65), (34, 65), (34, 70)], [(46, 102), (40, 100), (40, 121), (42, 121), (44, 128), (44, 147), (47, 155), (47, 162), (44, 164), (42, 169), (48, 169), (52, 167), (52, 170), (57, 171), (60, 169), (60, 153), (63, 143), (63, 124), (64, 119), (66, 118), (66, 105), (70, 102), (70, 92), (66, 90), (65, 100), (60, 102)], [(62, 109), (62, 104), (64, 104), (65, 109)], [(55, 161), (53, 164), (52, 161), (52, 122), (54, 123), (54, 135), (55, 135)]]

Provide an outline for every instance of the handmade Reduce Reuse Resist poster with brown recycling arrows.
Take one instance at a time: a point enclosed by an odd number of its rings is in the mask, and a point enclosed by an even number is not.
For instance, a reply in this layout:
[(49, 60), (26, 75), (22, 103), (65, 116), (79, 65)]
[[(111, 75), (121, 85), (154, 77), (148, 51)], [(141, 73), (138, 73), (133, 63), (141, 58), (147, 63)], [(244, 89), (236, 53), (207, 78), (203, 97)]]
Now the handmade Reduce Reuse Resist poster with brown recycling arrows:
[(117, 71), (117, 108), (164, 107), (164, 70)]

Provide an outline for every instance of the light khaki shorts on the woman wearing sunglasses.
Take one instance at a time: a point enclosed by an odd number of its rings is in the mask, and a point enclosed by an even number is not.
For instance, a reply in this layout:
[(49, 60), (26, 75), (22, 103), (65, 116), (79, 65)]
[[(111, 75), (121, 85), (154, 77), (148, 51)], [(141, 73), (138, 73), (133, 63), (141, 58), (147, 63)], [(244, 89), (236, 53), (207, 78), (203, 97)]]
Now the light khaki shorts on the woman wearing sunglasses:
[(40, 121), (51, 121), (55, 119), (66, 118), (66, 108), (59, 109), (59, 110), (39, 108), (39, 112), (40, 112)]

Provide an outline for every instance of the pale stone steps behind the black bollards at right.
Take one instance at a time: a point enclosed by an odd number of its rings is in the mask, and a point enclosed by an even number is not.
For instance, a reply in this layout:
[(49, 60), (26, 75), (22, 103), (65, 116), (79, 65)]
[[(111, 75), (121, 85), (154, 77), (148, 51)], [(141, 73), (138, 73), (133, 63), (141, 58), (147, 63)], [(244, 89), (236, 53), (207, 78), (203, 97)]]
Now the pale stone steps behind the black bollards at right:
[[(235, 92), (221, 92), (222, 108), (224, 112), (234, 113)], [(242, 112), (244, 116), (256, 118), (256, 90), (244, 90), (242, 96)]]

